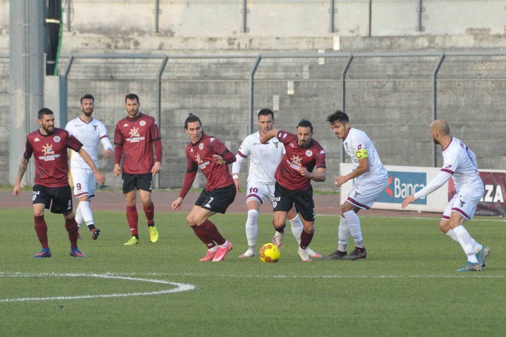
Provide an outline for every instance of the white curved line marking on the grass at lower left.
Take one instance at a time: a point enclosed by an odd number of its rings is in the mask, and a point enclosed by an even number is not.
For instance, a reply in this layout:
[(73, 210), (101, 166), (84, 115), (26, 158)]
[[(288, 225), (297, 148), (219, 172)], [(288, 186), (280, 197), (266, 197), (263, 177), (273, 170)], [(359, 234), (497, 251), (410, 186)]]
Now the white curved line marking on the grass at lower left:
[(57, 296), (57, 297), (26, 297), (17, 299), (0, 299), (0, 303), (7, 302), (26, 302), (26, 301), (50, 301), (50, 300), (82, 300), (82, 299), (98, 299), (98, 298), (113, 298), (113, 297), (132, 297), (132, 296), (146, 296), (146, 295), (159, 295), (165, 293), (175, 293), (181, 291), (188, 291), (195, 289), (195, 286), (187, 283), (170, 282), (165, 280), (138, 278), (130, 276), (121, 276), (117, 274), (58, 274), (58, 273), (4, 273), (0, 272), (0, 277), (98, 277), (105, 279), (119, 279), (126, 281), (141, 281), (159, 284), (168, 284), (175, 286), (175, 288), (149, 291), (149, 292), (126, 292), (126, 293), (110, 293), (110, 294), (95, 294), (95, 295), (82, 295), (82, 296)]

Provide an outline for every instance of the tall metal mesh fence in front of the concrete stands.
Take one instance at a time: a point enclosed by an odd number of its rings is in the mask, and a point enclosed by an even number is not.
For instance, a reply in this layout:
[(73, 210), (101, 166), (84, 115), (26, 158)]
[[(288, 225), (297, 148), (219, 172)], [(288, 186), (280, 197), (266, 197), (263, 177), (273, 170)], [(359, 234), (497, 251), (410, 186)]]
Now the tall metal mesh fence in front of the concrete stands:
[[(189, 112), (232, 152), (258, 130), (262, 108), (271, 108), (275, 127), (289, 132), (309, 119), (327, 155), (328, 178), (314, 184), (318, 189), (332, 188), (339, 162), (349, 161), (325, 122), (336, 109), (369, 135), (384, 164), (441, 165), (441, 149), (428, 131), (435, 118), (448, 120), (452, 134), (477, 154), (480, 168), (506, 164), (506, 53), (74, 55), (61, 60), (60, 73), (67, 78), (68, 119), (80, 114), (80, 97), (91, 93), (94, 115), (111, 139), (115, 123), (126, 115), (124, 96), (139, 95), (141, 112), (157, 119), (162, 135), (159, 188), (181, 187)], [(4, 78), (0, 72), (0, 105), (8, 111)], [(7, 140), (8, 132), (2, 133), (0, 142)], [(119, 187), (113, 160), (100, 158), (100, 165), (108, 185)], [(246, 167), (242, 171), (245, 186)], [(199, 174), (194, 187), (204, 184)]]

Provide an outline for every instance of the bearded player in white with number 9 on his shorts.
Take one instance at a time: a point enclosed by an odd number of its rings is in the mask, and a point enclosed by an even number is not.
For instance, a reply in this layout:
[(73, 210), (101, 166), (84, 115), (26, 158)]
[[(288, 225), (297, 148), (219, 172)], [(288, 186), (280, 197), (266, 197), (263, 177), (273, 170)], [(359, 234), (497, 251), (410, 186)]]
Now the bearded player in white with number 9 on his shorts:
[[(107, 136), (107, 129), (104, 123), (92, 116), (95, 107), (95, 98), (93, 95), (86, 94), (81, 98), (81, 115), (67, 123), (65, 130), (82, 143), (82, 148), (90, 155), (98, 165), (98, 144), (102, 143), (104, 147), (104, 157), (109, 158), (112, 154), (112, 144)], [(90, 166), (75, 151), (70, 151), (70, 177), (74, 187), (74, 196), (79, 200), (75, 212), (75, 221), (80, 228), (84, 220), (92, 239), (96, 240), (100, 235), (100, 229), (95, 228), (92, 210), (90, 208), (91, 199), (95, 198), (95, 182), (93, 171)], [(78, 238), (81, 238), (77, 232)]]

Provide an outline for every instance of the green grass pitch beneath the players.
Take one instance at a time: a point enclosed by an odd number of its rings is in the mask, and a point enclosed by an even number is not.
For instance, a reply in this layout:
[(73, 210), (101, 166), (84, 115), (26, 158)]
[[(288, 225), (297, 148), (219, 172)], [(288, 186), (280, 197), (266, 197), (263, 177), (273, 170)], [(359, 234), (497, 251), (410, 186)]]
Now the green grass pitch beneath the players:
[[(277, 264), (247, 248), (245, 215), (211, 220), (234, 244), (220, 263), (198, 262), (205, 246), (186, 214), (157, 213), (160, 233), (149, 241), (142, 211), (140, 244), (122, 212), (95, 212), (102, 235), (86, 230), (69, 256), (63, 217), (46, 213), (50, 259), (40, 250), (31, 209), (2, 209), (0, 335), (2, 336), (502, 336), (506, 272), (501, 218), (466, 228), (492, 254), (482, 272), (459, 273), (460, 245), (439, 220), (361, 216), (368, 252), (363, 261), (301, 262), (289, 226)], [(337, 217), (317, 217), (311, 247), (336, 248)], [(273, 235), (260, 216), (257, 253)], [(353, 243), (349, 250), (353, 249)], [(181, 288), (183, 287), (183, 288)], [(184, 291), (173, 291), (182, 289)]]

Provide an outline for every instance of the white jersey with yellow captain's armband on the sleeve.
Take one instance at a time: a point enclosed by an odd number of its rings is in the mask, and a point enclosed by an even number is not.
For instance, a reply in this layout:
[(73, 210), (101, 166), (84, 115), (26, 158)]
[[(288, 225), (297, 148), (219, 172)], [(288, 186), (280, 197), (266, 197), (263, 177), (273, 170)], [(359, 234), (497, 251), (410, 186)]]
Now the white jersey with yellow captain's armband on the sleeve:
[(351, 158), (351, 162), (353, 166), (358, 166), (358, 159), (365, 155), (364, 149), (367, 151), (367, 160), (369, 161), (369, 171), (360, 175), (358, 179), (365, 178), (383, 178), (388, 179), (388, 172), (383, 166), (381, 160), (379, 160), (379, 155), (372, 144), (371, 140), (365, 132), (350, 128), (348, 135), (343, 140), (343, 146), (345, 148), (346, 153)]

